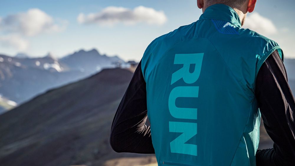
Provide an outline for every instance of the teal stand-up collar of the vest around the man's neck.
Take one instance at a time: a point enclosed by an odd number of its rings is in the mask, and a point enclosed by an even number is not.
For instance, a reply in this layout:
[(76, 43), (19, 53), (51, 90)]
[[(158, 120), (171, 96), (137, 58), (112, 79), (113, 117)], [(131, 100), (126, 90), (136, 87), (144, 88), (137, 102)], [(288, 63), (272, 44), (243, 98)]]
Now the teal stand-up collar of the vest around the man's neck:
[(208, 6), (204, 13), (201, 14), (199, 20), (201, 19), (219, 19), (230, 22), (236, 27), (241, 27), (240, 17), (237, 12), (225, 4), (214, 4)]

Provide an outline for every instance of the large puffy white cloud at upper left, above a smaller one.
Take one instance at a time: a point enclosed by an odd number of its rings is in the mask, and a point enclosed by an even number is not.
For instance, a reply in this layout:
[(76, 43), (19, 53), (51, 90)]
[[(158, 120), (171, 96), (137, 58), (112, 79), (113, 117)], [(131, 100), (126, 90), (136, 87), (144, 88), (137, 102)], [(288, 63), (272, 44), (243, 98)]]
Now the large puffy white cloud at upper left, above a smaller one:
[(67, 22), (63, 21), (59, 25), (51, 16), (37, 8), (0, 18), (0, 30), (25, 36), (35, 36), (43, 32), (59, 32), (66, 26)]

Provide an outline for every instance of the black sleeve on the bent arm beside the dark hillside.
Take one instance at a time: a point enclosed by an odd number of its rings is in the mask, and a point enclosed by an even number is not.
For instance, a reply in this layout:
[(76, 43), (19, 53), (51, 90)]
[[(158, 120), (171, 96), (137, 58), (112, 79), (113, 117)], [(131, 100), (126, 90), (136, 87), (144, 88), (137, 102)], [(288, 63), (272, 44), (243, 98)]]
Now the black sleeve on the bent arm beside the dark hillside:
[(141, 60), (115, 114), (110, 144), (116, 152), (154, 154), (150, 126), (147, 120), (146, 83)]

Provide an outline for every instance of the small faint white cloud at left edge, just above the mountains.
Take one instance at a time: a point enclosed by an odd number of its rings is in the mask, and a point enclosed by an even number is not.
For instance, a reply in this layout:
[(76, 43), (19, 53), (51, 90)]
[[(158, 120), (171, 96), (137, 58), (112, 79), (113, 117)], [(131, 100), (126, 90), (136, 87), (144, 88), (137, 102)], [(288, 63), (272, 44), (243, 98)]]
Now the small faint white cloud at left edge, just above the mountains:
[(23, 39), (19, 35), (0, 36), (0, 45), (2, 47), (10, 47), (18, 51), (26, 51), (29, 46), (29, 41)]

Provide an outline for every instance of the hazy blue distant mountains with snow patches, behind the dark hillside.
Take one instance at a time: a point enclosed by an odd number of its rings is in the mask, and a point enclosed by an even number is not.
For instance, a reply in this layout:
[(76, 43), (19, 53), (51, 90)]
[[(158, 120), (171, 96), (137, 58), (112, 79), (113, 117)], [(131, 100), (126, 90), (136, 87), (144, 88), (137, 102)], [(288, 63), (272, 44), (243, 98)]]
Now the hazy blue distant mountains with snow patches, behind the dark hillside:
[(63, 58), (48, 53), (41, 58), (26, 54), (0, 55), (0, 94), (17, 103), (46, 89), (77, 81), (104, 68), (124, 63), (118, 56), (101, 55), (96, 49), (80, 50)]

